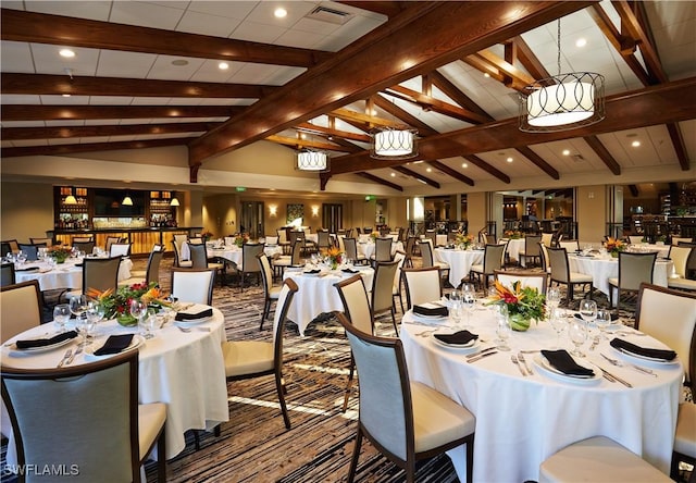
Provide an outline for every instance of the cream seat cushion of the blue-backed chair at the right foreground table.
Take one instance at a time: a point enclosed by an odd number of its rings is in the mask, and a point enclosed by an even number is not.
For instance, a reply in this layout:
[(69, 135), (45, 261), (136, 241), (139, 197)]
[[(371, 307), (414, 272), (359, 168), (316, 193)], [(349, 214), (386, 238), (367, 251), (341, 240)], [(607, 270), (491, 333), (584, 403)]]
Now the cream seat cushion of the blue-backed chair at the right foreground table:
[(474, 432), (469, 410), (419, 382), (411, 383), (415, 453), (427, 451)]

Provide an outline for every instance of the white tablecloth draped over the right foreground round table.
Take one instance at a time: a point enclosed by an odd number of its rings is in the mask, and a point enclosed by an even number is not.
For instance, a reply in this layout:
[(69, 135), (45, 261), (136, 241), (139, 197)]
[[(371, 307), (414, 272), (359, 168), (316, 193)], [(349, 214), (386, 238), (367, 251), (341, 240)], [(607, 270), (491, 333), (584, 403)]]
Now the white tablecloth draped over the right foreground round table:
[[(472, 332), (486, 340), (480, 343), (481, 347), (494, 345), (492, 311), (482, 309), (474, 314)], [(409, 320), (412, 317), (407, 312), (403, 321)], [(684, 373), (681, 364), (652, 363), (650, 369), (658, 377), (626, 367), (617, 368), (599, 356), (621, 358), (608, 342), (602, 342), (594, 351), (586, 352), (589, 360), (631, 382), (633, 388), (605, 379), (589, 385), (559, 381), (560, 376), (552, 379), (536, 366), (534, 375), (523, 377), (510, 361), (510, 355), (519, 349), (555, 346), (556, 333), (546, 322), (527, 332), (513, 333), (510, 345), (514, 352), (498, 352), (473, 363), (465, 362), (461, 350), (442, 348), (432, 337), (414, 336), (424, 330), (427, 327), (401, 325), (409, 377), (444, 393), (475, 416), (475, 482), (538, 481), (538, 467), (544, 459), (571, 443), (595, 435), (617, 441), (669, 474)], [(651, 337), (622, 337), (642, 346), (663, 347)], [(566, 339), (563, 343), (570, 349), (570, 343)], [(584, 350), (587, 351), (587, 345)], [(539, 356), (529, 355), (527, 361), (535, 357)], [(448, 455), (459, 479), (464, 481), (463, 447)]]

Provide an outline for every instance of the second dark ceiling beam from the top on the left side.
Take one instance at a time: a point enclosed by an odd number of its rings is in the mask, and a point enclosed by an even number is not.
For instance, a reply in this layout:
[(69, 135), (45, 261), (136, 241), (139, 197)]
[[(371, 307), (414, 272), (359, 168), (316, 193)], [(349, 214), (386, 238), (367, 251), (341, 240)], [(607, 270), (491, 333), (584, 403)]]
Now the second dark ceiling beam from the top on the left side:
[(3, 94), (259, 99), (278, 89), (251, 84), (189, 83), (123, 77), (3, 73)]

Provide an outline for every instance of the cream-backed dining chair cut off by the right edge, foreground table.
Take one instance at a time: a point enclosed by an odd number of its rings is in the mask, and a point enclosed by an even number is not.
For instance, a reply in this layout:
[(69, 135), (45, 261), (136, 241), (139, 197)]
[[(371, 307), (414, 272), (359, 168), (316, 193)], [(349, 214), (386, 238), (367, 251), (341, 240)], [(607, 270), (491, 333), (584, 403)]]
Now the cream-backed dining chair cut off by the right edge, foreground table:
[[(666, 314), (669, 314), (666, 317)], [(684, 368), (684, 382), (696, 394), (696, 294), (641, 284), (635, 329), (674, 350)], [(679, 462), (696, 466), (696, 405), (681, 403), (676, 420), (670, 475), (678, 476)], [(692, 480), (696, 478), (696, 467)]]

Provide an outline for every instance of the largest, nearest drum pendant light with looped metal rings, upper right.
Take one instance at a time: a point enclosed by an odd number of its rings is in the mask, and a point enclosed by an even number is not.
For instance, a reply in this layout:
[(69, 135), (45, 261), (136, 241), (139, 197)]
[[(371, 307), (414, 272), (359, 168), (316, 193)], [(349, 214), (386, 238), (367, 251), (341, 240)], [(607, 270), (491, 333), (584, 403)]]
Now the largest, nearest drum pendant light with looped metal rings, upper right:
[(552, 133), (605, 119), (605, 77), (593, 72), (561, 74), (561, 21), (558, 20), (558, 72), (520, 94), (520, 131)]

